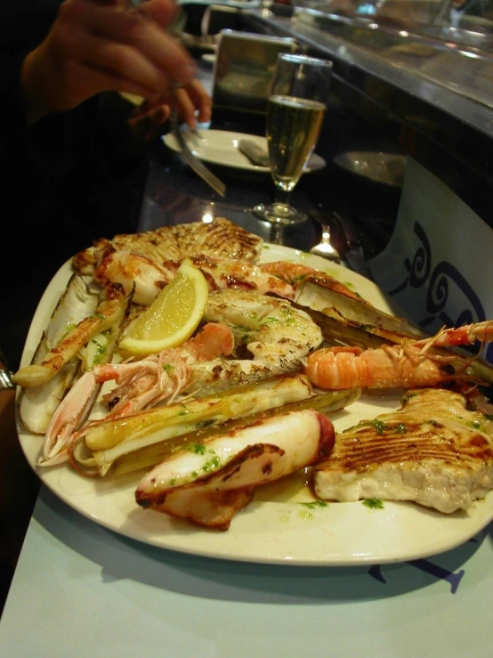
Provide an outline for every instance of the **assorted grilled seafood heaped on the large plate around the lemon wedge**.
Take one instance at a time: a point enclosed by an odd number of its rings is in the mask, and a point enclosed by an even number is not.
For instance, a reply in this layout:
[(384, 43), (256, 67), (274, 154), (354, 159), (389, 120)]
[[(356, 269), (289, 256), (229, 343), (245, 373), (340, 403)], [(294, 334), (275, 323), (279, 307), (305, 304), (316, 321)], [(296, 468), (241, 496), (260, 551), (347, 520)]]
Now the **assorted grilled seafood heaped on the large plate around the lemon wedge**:
[[(319, 510), (359, 500), (473, 516), (493, 489), (493, 369), (477, 355), (493, 322), (427, 336), (370, 302), (358, 275), (284, 249), (217, 218), (74, 256), (14, 374), (22, 447), (44, 482), (125, 495), (120, 527), (160, 535), (262, 523), (268, 500), (301, 501), (320, 524)], [(184, 259), (207, 283), (198, 328), (129, 356), (125, 329)]]

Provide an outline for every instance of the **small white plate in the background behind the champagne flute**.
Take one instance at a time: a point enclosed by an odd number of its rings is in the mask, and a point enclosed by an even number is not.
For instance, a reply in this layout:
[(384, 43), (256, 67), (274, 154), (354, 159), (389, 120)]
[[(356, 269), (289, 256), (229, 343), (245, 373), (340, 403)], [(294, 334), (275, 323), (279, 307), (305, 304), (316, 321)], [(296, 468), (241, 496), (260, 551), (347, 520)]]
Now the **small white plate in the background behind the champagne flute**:
[[(183, 130), (183, 137), (188, 143), (190, 150), (204, 162), (222, 167), (233, 167), (245, 171), (255, 171), (268, 174), (270, 167), (259, 167), (253, 165), (250, 160), (238, 149), (241, 139), (249, 139), (267, 150), (267, 140), (255, 134), (233, 133), (229, 130)], [(180, 146), (173, 133), (167, 133), (162, 137), (163, 142), (170, 149), (180, 152)], [(326, 161), (319, 155), (313, 153), (305, 174), (316, 171), (326, 166)]]

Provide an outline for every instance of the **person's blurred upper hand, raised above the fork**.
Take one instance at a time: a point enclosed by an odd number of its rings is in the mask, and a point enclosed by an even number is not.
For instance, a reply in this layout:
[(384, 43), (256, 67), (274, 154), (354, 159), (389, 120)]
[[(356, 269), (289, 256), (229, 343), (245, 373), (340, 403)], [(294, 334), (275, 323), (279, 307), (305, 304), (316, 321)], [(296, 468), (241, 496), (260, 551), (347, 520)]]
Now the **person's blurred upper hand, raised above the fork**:
[(169, 97), (194, 75), (190, 55), (166, 32), (174, 0), (65, 0), (53, 26), (21, 69), (28, 124), (76, 107), (96, 93)]

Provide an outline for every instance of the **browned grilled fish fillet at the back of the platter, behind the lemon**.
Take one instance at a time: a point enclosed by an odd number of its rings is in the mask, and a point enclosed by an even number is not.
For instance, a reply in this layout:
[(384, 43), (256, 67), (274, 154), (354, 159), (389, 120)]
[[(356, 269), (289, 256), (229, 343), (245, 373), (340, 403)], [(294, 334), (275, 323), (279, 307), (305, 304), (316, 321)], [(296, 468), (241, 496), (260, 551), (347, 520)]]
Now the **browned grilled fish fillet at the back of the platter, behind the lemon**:
[(96, 240), (93, 247), (74, 256), (72, 263), (76, 271), (92, 274), (98, 252), (109, 247), (147, 256), (157, 263), (181, 261), (185, 256), (214, 256), (256, 263), (263, 239), (223, 217), (216, 217), (211, 223), (161, 226), (155, 231), (123, 233), (112, 240)]

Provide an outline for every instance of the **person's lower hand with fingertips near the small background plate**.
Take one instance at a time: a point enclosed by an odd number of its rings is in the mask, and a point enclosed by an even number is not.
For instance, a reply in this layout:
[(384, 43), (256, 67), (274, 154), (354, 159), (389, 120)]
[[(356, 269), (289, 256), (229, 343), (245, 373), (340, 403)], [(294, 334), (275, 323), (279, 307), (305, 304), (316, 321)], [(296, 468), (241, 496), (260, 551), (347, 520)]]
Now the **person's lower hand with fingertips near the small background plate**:
[(128, 120), (133, 150), (153, 142), (163, 133), (163, 125), (171, 114), (174, 102), (183, 121), (190, 128), (196, 127), (196, 120), (206, 123), (211, 119), (212, 99), (198, 80), (174, 90), (166, 97), (144, 100), (133, 110)]

